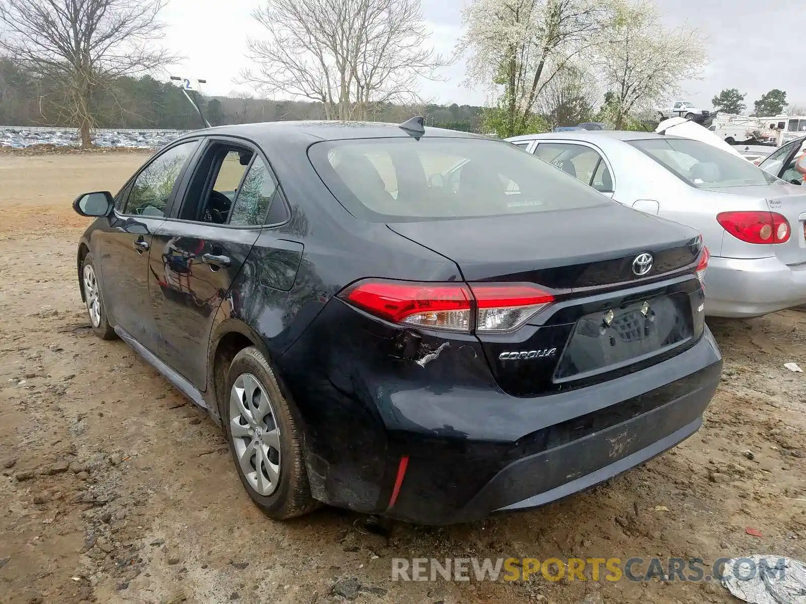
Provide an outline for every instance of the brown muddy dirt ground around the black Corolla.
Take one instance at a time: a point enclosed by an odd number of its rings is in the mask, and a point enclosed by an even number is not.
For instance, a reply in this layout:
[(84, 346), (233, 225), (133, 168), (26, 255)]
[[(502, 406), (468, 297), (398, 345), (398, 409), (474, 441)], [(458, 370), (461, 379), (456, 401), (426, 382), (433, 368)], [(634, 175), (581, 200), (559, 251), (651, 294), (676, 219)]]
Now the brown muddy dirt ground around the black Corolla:
[(212, 421), (89, 329), (75, 267), (87, 221), (70, 203), (117, 190), (145, 157), (0, 155), (0, 602), (322, 604), (343, 602), (333, 587), (349, 577), (376, 604), (735, 602), (714, 581), (394, 582), (391, 559), (806, 560), (806, 374), (783, 366), (806, 368), (796, 311), (708, 321), (725, 373), (703, 428), (584, 494), (385, 536), (328, 508), (266, 519)]

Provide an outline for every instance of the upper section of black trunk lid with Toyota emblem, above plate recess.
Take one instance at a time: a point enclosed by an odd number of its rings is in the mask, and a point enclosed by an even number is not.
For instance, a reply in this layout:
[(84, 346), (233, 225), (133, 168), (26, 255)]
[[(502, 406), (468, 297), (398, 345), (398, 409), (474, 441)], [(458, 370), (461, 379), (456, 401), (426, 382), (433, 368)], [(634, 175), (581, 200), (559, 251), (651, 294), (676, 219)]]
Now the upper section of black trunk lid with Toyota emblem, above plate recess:
[(467, 281), (562, 290), (634, 282), (632, 264), (642, 252), (654, 257), (642, 279), (685, 267), (699, 253), (696, 230), (618, 204), (388, 228), (453, 260)]

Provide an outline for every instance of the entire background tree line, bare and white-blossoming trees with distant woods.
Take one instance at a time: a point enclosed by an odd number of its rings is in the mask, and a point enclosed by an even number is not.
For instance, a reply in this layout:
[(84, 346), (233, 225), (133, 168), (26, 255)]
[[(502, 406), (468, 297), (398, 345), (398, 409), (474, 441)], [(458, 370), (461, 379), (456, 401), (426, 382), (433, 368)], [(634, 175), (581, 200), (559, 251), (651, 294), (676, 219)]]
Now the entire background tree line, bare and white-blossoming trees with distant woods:
[[(152, 77), (181, 60), (161, 47), (166, 1), (0, 0), (0, 122), (76, 126), (85, 146), (98, 127), (201, 126), (181, 91)], [(654, 0), (473, 0), (442, 56), (420, 2), (256, 0), (263, 33), (247, 40), (252, 67), (234, 81), (258, 98), (194, 98), (215, 124), (422, 113), (501, 136), (586, 121), (630, 128), (708, 60), (700, 32), (665, 27)], [(422, 98), (420, 83), (460, 57), (488, 106)]]

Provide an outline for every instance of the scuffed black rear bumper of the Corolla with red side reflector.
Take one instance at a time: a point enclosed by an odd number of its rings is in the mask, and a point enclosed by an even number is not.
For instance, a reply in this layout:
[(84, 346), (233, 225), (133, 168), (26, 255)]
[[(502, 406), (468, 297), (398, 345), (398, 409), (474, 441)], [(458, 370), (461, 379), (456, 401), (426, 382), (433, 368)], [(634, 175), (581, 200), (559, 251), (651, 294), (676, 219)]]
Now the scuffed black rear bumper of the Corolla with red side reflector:
[(350, 362), (330, 377), (283, 372), (305, 417), (311, 492), (425, 524), (542, 505), (662, 453), (700, 426), (721, 374), (707, 328), (654, 366), (536, 397), (498, 389), (470, 340), (365, 384), (347, 379), (363, 352), (340, 352)]

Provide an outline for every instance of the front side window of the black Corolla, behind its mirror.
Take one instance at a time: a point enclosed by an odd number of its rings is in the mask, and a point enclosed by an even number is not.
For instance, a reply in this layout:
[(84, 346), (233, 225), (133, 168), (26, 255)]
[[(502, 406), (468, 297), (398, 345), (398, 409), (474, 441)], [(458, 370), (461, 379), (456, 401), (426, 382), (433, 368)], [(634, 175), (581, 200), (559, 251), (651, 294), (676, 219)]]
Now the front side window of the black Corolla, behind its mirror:
[(163, 217), (173, 188), (198, 141), (181, 143), (156, 157), (135, 178), (124, 213)]

